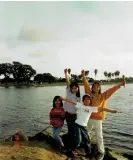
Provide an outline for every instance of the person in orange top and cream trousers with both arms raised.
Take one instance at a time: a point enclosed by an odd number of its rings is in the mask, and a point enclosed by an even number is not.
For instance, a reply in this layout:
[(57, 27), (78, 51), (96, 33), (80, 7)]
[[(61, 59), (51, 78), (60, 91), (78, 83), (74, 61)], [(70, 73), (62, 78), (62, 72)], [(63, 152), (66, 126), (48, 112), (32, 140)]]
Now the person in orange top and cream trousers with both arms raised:
[[(121, 87), (125, 85), (125, 80), (120, 84), (108, 89), (107, 91), (101, 93), (101, 85), (99, 82), (95, 82), (91, 89), (88, 80), (85, 77), (85, 71), (82, 70), (81, 74), (84, 81), (84, 89), (86, 94), (91, 95), (91, 105), (97, 107), (106, 107), (107, 100)], [(97, 145), (98, 145), (98, 155), (96, 160), (102, 160), (104, 157), (104, 144), (103, 144), (103, 132), (102, 132), (102, 121), (105, 120), (105, 112), (98, 111), (97, 113), (92, 113), (90, 120), (88, 122), (88, 133), (90, 133), (92, 127), (95, 128)]]

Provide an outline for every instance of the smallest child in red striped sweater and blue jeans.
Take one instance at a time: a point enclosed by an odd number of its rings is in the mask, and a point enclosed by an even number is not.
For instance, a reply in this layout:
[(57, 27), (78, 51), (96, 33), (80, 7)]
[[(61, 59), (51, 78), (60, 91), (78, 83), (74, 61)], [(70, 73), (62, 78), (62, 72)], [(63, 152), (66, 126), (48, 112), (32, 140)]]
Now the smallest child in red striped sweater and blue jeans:
[(53, 100), (53, 108), (50, 111), (50, 124), (53, 126), (53, 137), (55, 138), (61, 151), (64, 149), (64, 144), (59, 136), (64, 124), (65, 111), (63, 103), (59, 96), (55, 96)]

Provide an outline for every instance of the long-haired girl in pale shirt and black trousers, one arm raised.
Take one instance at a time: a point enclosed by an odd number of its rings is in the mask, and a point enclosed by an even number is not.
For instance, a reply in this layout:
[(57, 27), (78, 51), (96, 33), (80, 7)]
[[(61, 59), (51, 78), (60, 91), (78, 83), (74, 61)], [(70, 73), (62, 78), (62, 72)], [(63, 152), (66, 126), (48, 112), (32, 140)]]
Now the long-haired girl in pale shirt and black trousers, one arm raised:
[[(69, 82), (68, 78), (68, 70), (64, 70), (65, 77), (66, 77), (66, 98), (72, 99), (76, 102), (80, 102), (80, 89), (79, 85), (75, 82), (71, 83)], [(72, 142), (72, 137), (74, 134), (74, 122), (77, 118), (77, 113), (76, 113), (76, 108), (75, 105), (69, 102), (64, 103), (64, 109), (65, 109), (65, 114), (66, 114), (66, 122), (67, 122), (67, 127), (68, 127), (68, 136), (70, 139), (70, 142)], [(71, 143), (69, 144), (71, 147)]]

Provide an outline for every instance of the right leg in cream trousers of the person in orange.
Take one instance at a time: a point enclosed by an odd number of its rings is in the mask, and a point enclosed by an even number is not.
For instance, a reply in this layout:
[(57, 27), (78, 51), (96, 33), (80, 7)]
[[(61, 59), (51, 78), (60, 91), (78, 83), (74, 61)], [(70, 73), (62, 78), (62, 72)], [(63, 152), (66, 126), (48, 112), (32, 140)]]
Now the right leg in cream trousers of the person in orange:
[(100, 153), (104, 153), (104, 143), (103, 143), (103, 127), (102, 127), (102, 120), (94, 120), (94, 127), (96, 132), (96, 139), (98, 145), (98, 151)]

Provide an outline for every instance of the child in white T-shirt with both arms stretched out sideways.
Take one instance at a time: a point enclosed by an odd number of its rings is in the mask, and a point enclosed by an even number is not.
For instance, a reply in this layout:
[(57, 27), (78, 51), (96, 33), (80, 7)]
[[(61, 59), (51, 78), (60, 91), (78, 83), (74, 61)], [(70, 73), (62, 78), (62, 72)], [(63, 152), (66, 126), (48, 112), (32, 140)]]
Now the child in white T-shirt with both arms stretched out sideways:
[[(86, 156), (89, 157), (91, 153), (91, 145), (90, 145), (90, 138), (87, 132), (87, 123), (91, 116), (91, 113), (92, 112), (96, 113), (101, 111), (117, 113), (117, 111), (109, 108), (90, 106), (91, 97), (88, 94), (83, 96), (82, 98), (83, 104), (78, 103), (74, 100), (63, 98), (63, 97), (60, 97), (60, 99), (74, 104), (77, 109), (77, 119), (74, 123), (74, 136), (73, 136), (72, 150), (74, 151), (76, 147), (80, 145), (82, 140), (84, 142), (84, 149), (86, 152)], [(72, 152), (72, 155), (73, 155), (73, 152)]]

